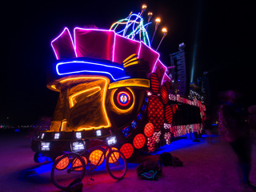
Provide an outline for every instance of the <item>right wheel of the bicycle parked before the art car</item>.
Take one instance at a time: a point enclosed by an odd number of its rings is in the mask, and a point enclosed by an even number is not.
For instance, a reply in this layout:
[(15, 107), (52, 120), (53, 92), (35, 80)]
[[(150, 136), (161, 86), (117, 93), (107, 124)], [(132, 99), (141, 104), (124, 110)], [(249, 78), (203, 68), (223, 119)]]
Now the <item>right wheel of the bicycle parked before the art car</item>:
[(114, 179), (121, 180), (127, 172), (125, 156), (119, 150), (112, 150), (106, 157), (106, 170)]

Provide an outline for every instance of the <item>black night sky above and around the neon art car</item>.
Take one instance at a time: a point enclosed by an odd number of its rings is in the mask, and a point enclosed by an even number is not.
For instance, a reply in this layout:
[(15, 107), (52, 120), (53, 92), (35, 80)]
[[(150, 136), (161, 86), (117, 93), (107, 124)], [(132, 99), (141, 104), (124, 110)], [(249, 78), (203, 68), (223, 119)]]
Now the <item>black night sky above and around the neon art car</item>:
[[(246, 96), (247, 105), (255, 104), (249, 27), (254, 23), (253, 6), (246, 1), (11, 1), (2, 4), (1, 13), (4, 59), (0, 124), (6, 123), (7, 117), (9, 122), (21, 125), (53, 114), (58, 93), (46, 89), (46, 74), (55, 61), (50, 42), (65, 26), (72, 31), (75, 26), (94, 22), (98, 28), (109, 29), (130, 11), (140, 12), (144, 2), (153, 18), (162, 18), (160, 29), (166, 26), (169, 30), (158, 50), (166, 66), (170, 66), (169, 54), (185, 42), (190, 78), (196, 43), (194, 81), (203, 71), (209, 72), (212, 102), (216, 102), (219, 91), (238, 89)], [(148, 31), (153, 33), (154, 24)], [(154, 49), (161, 38), (158, 30)]]

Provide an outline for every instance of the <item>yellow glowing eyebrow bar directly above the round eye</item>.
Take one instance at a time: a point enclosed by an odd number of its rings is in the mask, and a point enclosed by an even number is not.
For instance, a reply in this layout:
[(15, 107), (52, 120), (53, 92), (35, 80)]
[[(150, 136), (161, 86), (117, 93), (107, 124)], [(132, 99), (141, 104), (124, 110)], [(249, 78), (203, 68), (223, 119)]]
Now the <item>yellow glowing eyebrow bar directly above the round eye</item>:
[(130, 78), (118, 82), (112, 82), (110, 83), (109, 90), (126, 86), (141, 86), (150, 88), (150, 80), (145, 78)]

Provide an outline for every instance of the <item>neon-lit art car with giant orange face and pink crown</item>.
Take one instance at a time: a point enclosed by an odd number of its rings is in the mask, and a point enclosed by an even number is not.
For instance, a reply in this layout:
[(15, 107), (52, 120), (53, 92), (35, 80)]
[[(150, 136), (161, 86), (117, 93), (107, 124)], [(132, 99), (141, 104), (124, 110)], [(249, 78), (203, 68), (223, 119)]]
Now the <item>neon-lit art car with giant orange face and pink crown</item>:
[[(126, 27), (118, 32), (121, 22)], [(47, 87), (59, 98), (50, 130), (32, 142), (35, 162), (103, 139), (131, 159), (140, 150), (154, 151), (172, 137), (202, 130), (206, 107), (174, 94), (142, 22), (140, 14), (130, 14), (110, 30), (76, 27), (72, 37), (65, 28), (54, 38), (56, 62)], [(141, 27), (130, 31), (138, 23)], [(143, 41), (135, 40), (138, 34)]]

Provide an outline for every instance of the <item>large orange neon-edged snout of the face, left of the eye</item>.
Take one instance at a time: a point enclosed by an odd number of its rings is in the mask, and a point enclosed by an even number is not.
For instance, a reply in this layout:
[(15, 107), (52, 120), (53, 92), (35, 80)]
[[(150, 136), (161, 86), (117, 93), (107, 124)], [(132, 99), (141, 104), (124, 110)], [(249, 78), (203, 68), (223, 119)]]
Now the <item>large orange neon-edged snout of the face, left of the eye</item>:
[(111, 123), (105, 106), (109, 84), (109, 78), (96, 75), (71, 75), (49, 84), (60, 91), (52, 118), (52, 124), (58, 124), (53, 126), (54, 130), (109, 128)]

